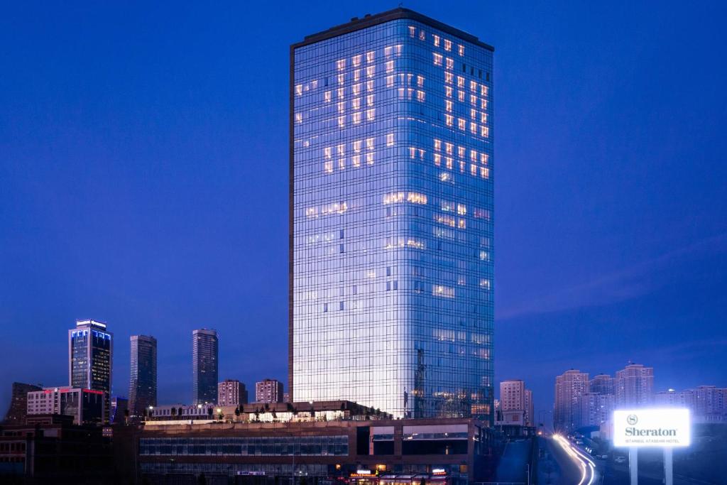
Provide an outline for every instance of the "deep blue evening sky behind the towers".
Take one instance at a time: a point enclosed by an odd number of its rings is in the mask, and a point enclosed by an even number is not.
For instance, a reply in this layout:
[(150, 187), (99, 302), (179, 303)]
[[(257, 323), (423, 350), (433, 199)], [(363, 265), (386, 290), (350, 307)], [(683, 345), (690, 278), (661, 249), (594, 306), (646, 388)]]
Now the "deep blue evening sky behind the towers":
[[(371, 2), (32, 2), (0, 13), (0, 413), (67, 329), (158, 338), (161, 404), (287, 376), (289, 44)], [(496, 377), (727, 386), (727, 4), (407, 1), (495, 52)]]

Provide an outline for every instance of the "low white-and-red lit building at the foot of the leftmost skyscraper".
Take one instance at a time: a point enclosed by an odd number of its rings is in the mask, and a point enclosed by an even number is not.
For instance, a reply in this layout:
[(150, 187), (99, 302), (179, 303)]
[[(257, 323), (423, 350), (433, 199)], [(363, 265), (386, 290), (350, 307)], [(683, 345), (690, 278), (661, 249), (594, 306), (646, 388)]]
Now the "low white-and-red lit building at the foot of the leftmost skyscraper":
[(35, 414), (65, 414), (73, 416), (73, 423), (102, 424), (108, 422), (106, 404), (108, 393), (104, 390), (92, 390), (63, 386), (59, 388), (43, 388), (28, 393), (28, 416)]

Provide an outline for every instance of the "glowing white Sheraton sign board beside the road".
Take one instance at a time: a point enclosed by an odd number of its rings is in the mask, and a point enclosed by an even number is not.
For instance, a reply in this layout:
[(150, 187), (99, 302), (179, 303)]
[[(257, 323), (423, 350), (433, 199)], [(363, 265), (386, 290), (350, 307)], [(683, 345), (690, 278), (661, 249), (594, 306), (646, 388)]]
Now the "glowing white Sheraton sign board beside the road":
[(672, 448), (689, 446), (689, 409), (619, 409), (614, 411), (614, 446)]

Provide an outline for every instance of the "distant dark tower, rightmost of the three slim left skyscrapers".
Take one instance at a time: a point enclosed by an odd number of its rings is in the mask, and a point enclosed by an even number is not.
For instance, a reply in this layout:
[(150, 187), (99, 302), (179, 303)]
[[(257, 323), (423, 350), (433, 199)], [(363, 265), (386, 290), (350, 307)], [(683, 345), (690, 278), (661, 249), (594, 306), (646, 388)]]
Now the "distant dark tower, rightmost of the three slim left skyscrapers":
[(217, 331), (192, 332), (193, 404), (217, 402)]

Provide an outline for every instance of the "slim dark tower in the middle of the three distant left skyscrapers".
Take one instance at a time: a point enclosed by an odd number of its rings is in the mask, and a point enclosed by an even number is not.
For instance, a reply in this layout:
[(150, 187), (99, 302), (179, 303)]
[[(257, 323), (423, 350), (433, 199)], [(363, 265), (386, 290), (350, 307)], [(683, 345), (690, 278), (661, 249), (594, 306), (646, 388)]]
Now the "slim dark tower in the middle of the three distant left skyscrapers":
[(142, 416), (149, 406), (156, 406), (156, 338), (132, 335), (129, 412)]

